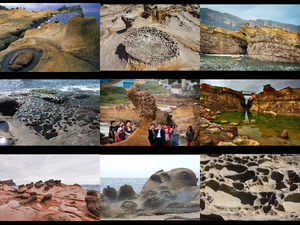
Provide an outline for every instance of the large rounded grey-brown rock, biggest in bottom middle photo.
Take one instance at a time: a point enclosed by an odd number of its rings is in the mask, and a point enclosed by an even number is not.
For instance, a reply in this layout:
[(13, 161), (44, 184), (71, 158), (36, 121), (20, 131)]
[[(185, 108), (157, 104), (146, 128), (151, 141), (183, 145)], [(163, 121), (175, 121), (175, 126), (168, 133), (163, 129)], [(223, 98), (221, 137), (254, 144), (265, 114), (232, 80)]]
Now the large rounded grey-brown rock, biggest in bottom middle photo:
[(186, 186), (197, 186), (197, 177), (192, 170), (187, 168), (176, 168), (168, 172), (160, 170), (151, 175), (140, 194), (159, 189), (179, 190)]

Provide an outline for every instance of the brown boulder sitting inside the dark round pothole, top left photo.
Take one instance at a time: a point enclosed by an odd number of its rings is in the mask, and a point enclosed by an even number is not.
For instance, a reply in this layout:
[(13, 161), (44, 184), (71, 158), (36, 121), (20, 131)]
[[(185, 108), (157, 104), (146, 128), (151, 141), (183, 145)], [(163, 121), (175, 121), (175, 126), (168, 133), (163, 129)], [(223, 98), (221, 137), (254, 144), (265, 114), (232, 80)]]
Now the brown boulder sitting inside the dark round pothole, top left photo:
[(9, 61), (9, 68), (13, 71), (21, 70), (28, 66), (33, 59), (33, 53), (30, 51), (17, 52)]

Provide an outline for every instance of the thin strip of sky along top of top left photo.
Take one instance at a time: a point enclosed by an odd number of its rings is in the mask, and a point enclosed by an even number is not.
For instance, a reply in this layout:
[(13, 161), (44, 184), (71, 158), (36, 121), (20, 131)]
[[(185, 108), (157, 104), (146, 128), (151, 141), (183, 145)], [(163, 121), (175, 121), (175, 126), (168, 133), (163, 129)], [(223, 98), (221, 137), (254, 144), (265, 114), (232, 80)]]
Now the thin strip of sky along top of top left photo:
[(39, 11), (46, 9), (56, 10), (63, 5), (69, 7), (74, 5), (81, 5), (81, 8), (84, 12), (99, 12), (100, 13), (100, 4), (99, 3), (0, 3), (0, 5), (5, 6), (8, 9), (16, 7), (25, 7), (30, 11)]

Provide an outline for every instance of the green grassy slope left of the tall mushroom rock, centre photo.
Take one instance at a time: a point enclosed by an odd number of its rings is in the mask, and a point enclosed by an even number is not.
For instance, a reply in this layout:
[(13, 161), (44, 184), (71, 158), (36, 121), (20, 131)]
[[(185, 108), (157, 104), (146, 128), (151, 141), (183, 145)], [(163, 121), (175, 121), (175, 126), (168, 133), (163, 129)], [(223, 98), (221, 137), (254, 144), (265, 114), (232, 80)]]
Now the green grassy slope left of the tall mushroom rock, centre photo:
[(100, 104), (124, 104), (130, 101), (127, 97), (127, 91), (121, 87), (101, 87)]

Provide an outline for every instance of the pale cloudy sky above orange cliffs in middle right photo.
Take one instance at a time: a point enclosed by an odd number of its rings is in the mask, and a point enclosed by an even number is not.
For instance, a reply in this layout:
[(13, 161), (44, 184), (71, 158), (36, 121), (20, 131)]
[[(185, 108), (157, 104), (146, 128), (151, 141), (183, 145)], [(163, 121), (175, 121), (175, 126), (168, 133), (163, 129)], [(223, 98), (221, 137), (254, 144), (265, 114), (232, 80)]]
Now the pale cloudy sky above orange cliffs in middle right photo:
[(300, 80), (282, 80), (282, 79), (235, 79), (235, 80), (220, 80), (220, 79), (200, 79), (200, 83), (210, 84), (212, 86), (222, 86), (234, 89), (236, 91), (254, 91), (257, 94), (263, 91), (263, 86), (271, 84), (275, 90), (279, 91), (290, 86), (291, 88), (300, 88)]

